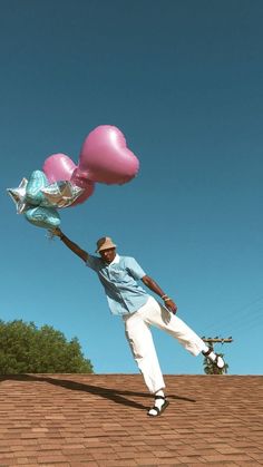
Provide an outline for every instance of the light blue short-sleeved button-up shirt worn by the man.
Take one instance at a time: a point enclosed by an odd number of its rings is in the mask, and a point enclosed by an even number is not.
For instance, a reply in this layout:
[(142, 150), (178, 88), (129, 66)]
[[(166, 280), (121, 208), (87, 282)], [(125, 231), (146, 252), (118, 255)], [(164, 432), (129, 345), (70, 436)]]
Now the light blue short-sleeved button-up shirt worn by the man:
[(113, 314), (134, 313), (147, 302), (149, 295), (137, 283), (146, 274), (134, 257), (116, 254), (107, 264), (98, 256), (88, 255), (86, 265), (98, 274)]

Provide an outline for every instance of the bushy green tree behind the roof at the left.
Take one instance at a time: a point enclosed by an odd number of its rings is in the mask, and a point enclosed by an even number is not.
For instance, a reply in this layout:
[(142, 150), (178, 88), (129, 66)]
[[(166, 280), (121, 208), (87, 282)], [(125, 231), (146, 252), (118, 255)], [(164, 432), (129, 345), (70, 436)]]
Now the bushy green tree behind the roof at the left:
[(77, 338), (67, 341), (50, 325), (0, 320), (0, 373), (92, 373)]

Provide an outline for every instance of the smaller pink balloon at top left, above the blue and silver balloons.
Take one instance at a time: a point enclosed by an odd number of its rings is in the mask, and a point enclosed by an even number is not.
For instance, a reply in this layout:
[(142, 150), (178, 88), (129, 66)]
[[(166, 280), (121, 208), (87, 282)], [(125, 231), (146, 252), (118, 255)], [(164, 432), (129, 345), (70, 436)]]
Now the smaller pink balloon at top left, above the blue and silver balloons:
[(76, 164), (66, 154), (52, 154), (43, 163), (43, 172), (50, 183), (70, 181)]

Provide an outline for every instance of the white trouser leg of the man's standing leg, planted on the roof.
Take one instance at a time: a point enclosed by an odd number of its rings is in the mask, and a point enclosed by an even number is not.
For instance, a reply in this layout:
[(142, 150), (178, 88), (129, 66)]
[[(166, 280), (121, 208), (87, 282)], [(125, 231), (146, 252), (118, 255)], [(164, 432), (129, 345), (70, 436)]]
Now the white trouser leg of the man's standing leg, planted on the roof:
[(165, 388), (165, 382), (159, 368), (149, 324), (144, 321), (140, 314), (140, 311), (145, 307), (147, 304), (142, 307), (136, 313), (127, 314), (123, 318), (126, 338), (135, 361), (138, 364), (149, 392), (155, 393), (159, 389)]

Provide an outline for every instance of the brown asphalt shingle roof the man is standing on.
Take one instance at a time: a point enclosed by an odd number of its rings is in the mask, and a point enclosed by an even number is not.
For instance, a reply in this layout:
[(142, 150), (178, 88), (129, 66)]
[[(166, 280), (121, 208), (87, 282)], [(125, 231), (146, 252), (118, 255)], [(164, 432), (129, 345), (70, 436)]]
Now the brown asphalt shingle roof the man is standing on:
[(0, 377), (0, 467), (263, 465), (263, 377), (165, 380), (150, 418), (140, 374)]

